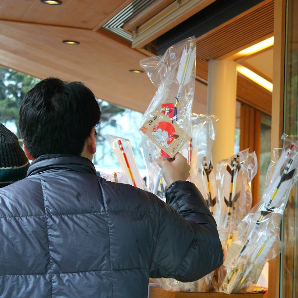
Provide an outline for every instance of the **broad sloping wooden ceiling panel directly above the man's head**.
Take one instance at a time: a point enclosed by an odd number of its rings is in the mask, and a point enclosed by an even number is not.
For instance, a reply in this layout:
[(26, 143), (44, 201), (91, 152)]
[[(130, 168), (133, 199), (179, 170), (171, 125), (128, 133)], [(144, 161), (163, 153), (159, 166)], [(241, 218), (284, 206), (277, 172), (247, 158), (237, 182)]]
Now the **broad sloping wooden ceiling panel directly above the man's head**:
[[(63, 39), (81, 43), (70, 46)], [(98, 98), (144, 112), (156, 88), (133, 74), (146, 57), (108, 34), (86, 29), (0, 21), (0, 64), (44, 79), (84, 82)], [(205, 112), (207, 87), (196, 81), (194, 111)]]

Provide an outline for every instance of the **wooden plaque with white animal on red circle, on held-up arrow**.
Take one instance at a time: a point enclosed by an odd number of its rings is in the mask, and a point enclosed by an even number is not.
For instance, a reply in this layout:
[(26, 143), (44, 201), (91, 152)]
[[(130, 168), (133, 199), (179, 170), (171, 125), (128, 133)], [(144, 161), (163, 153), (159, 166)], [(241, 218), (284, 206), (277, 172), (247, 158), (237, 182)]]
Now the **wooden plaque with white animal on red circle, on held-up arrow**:
[(183, 129), (159, 111), (149, 115), (140, 131), (171, 158), (190, 138)]

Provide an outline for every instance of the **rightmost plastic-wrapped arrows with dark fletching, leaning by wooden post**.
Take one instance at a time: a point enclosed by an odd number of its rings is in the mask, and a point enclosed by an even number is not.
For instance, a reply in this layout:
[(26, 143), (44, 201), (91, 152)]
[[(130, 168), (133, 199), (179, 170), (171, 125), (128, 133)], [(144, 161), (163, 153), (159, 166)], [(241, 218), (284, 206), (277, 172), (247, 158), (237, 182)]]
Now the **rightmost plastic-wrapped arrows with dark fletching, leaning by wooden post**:
[(273, 152), (262, 199), (242, 220), (237, 240), (232, 243), (224, 262), (227, 274), (221, 290), (226, 293), (242, 292), (256, 283), (265, 262), (279, 253), (278, 226), (298, 178), (297, 141), (286, 135), (283, 139), (283, 149)]

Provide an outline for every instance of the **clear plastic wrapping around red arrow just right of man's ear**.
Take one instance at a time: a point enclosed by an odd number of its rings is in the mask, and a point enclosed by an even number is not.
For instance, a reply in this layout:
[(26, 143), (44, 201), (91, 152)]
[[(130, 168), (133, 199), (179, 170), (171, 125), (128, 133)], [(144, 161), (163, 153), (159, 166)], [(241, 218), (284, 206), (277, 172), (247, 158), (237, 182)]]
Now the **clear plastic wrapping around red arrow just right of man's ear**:
[(138, 170), (129, 140), (110, 135), (104, 137), (114, 151), (121, 171), (127, 177), (129, 184), (144, 189), (144, 182)]

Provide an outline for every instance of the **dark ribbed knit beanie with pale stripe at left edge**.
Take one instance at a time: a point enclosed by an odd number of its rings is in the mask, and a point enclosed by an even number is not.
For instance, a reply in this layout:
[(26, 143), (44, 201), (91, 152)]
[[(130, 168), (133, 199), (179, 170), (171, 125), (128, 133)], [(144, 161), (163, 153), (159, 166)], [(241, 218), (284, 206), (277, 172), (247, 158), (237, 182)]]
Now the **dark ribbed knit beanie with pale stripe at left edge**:
[(24, 179), (29, 160), (15, 134), (0, 123), (0, 188)]

